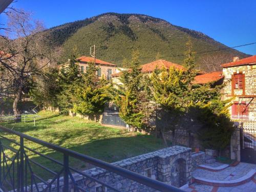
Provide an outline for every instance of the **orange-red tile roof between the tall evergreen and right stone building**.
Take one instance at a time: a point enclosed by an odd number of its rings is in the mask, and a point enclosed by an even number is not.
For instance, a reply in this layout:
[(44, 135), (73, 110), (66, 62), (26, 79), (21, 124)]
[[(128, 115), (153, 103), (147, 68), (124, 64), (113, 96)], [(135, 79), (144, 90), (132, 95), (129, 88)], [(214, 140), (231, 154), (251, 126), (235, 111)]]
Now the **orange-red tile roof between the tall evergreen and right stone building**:
[(222, 79), (224, 76), (222, 75), (221, 71), (218, 72), (211, 72), (211, 73), (206, 73), (203, 75), (197, 75), (195, 77), (195, 80), (193, 81), (193, 83), (196, 84), (205, 84), (208, 82), (213, 82), (213, 81), (218, 81), (220, 79)]

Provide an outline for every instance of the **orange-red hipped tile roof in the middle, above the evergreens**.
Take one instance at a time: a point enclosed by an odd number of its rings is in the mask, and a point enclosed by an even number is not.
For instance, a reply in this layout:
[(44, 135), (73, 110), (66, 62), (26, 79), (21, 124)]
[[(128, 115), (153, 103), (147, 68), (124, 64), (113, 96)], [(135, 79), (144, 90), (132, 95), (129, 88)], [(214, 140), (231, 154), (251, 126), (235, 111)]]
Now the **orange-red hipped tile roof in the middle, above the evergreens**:
[[(184, 70), (185, 68), (181, 65), (178, 65), (176, 63), (173, 62), (169, 62), (163, 59), (159, 59), (150, 63), (146, 63), (144, 65), (141, 66), (141, 71), (142, 73), (149, 73), (149, 72), (153, 72), (156, 68), (158, 69), (170, 69), (170, 67), (175, 67), (176, 69), (179, 70)], [(119, 73), (113, 73), (112, 77), (116, 77), (116, 76), (120, 76), (122, 74), (122, 72)]]

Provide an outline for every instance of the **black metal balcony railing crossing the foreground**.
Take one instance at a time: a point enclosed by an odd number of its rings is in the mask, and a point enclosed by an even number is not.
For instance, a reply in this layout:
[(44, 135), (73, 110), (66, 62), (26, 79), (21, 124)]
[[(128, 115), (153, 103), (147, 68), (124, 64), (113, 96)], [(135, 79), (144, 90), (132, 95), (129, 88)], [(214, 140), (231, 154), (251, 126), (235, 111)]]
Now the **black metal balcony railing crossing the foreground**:
[[(36, 139), (3, 126), (0, 126), (0, 131), (0, 187), (4, 191), (88, 191), (84, 185), (79, 185), (79, 180), (75, 179), (74, 174), (82, 178), (87, 178), (100, 186), (104, 186), (104, 188), (98, 191), (106, 191), (105, 188), (108, 191), (120, 191), (114, 185), (104, 182), (82, 170), (71, 167), (69, 164), (71, 158), (76, 161), (90, 163), (95, 167), (105, 169), (124, 179), (132, 180), (133, 183), (135, 181), (140, 185), (154, 189), (151, 191), (183, 191), (122, 167)], [(10, 135), (19, 138), (19, 141), (17, 139), (10, 139)], [(38, 153), (36, 150), (25, 146), (25, 139), (38, 145), (38, 147), (47, 147), (48, 150), (60, 153), (63, 161), (56, 160), (49, 155)], [(42, 161), (37, 162), (33, 159), (35, 155), (45, 161), (49, 161), (51, 165), (56, 164), (54, 167), (58, 166), (59, 169), (48, 168), (44, 163), (41, 163)], [(44, 170), (47, 174), (42, 174), (42, 171), (39, 171), (38, 168)]]

